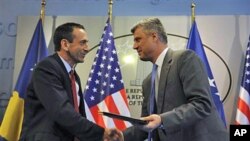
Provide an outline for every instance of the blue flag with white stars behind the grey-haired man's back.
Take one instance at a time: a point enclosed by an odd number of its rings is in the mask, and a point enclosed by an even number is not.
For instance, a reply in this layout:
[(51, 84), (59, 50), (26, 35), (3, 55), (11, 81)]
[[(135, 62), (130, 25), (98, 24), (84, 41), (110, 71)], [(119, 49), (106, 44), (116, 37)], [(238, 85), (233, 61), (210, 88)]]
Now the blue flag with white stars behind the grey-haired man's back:
[(214, 80), (214, 76), (213, 76), (211, 68), (209, 66), (207, 56), (206, 56), (206, 53), (204, 51), (203, 44), (201, 42), (200, 34), (198, 32), (197, 25), (196, 25), (195, 21), (193, 22), (192, 28), (190, 30), (187, 49), (191, 49), (191, 50), (195, 51), (196, 54), (201, 58), (202, 62), (204, 63), (205, 69), (207, 70), (211, 94), (212, 94), (215, 106), (217, 108), (217, 111), (219, 112), (219, 115), (220, 115), (222, 121), (226, 125), (223, 104), (220, 100), (220, 94), (218, 92), (218, 89), (217, 89), (217, 86), (216, 86), (216, 83)]

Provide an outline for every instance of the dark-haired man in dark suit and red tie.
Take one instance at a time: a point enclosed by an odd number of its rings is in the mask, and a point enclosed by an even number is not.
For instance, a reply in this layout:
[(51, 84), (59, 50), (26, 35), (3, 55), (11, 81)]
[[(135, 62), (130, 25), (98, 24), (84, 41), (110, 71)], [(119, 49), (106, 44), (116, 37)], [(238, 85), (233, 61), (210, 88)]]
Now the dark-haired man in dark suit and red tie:
[[(33, 71), (20, 140), (101, 141), (109, 140), (109, 135), (118, 137), (117, 130), (104, 129), (85, 116), (80, 78), (74, 71), (89, 51), (84, 27), (77, 23), (60, 25), (54, 33), (54, 44), (56, 53)], [(75, 80), (70, 79), (70, 72)]]

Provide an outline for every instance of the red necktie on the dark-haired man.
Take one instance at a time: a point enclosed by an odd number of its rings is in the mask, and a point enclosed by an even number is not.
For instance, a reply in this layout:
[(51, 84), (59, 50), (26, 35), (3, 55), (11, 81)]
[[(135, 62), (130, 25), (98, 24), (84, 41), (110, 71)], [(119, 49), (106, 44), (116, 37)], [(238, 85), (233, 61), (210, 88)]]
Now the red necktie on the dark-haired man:
[(79, 113), (79, 107), (78, 107), (78, 102), (77, 102), (77, 92), (76, 92), (76, 79), (74, 75), (74, 70), (70, 71), (70, 80), (71, 80), (71, 89), (72, 89), (74, 108)]

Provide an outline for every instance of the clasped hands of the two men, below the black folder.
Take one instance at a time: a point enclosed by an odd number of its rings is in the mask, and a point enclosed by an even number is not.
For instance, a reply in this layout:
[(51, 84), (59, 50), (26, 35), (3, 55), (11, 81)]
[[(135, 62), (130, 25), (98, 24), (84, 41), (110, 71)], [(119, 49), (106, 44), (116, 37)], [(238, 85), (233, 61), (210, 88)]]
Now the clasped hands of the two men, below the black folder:
[(116, 128), (106, 128), (103, 135), (103, 141), (124, 141), (123, 134)]

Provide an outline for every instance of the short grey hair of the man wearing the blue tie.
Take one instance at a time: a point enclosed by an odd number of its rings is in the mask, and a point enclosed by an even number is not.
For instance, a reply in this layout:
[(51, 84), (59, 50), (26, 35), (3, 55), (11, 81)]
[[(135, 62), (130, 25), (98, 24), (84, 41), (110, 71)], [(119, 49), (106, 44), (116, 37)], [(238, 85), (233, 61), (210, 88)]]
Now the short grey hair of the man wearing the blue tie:
[(156, 32), (161, 42), (165, 44), (168, 43), (167, 33), (165, 32), (165, 29), (158, 18), (146, 18), (139, 21), (132, 27), (131, 32), (134, 33), (138, 27), (142, 27), (146, 33)]

